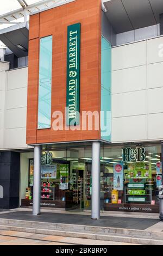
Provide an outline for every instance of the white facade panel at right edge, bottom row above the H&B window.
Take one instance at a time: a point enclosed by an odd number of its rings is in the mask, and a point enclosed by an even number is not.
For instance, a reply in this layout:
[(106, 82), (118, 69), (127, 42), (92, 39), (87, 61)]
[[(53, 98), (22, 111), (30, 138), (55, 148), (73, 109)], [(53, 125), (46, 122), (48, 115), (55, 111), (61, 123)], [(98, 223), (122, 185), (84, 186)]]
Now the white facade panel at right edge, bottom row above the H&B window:
[(163, 139), (163, 113), (148, 115), (148, 139)]

